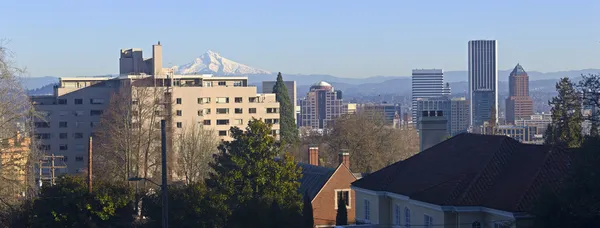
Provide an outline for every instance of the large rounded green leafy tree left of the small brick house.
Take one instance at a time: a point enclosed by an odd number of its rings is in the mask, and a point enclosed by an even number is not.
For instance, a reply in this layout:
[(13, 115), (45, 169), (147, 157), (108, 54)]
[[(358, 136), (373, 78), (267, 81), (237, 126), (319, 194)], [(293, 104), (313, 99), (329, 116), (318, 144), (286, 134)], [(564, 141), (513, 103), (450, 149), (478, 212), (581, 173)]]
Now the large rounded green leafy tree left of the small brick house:
[(237, 127), (230, 131), (233, 141), (219, 146), (211, 163), (214, 173), (206, 181), (211, 203), (231, 216), (227, 226), (264, 227), (256, 213), (270, 213), (273, 202), (289, 218), (285, 221), (296, 221), (302, 204), (297, 192), (301, 171), (287, 153), (276, 159), (281, 147), (271, 136), (271, 126), (252, 119), (245, 131)]

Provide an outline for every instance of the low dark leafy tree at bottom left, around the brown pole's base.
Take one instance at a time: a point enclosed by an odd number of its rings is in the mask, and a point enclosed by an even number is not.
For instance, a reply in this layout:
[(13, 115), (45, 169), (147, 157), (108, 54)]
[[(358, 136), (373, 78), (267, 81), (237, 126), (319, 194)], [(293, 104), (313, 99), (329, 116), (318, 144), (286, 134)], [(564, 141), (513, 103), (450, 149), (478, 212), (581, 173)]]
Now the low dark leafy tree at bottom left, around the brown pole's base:
[(129, 227), (133, 191), (124, 183), (96, 183), (88, 193), (85, 178), (63, 176), (44, 186), (33, 204), (33, 227)]

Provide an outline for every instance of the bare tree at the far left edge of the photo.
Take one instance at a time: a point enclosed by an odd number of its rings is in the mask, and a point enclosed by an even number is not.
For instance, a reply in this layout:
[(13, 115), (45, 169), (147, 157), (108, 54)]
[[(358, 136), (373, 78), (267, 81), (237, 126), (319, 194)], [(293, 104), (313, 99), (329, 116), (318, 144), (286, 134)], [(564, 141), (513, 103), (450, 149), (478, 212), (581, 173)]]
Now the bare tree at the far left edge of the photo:
[(0, 211), (35, 190), (33, 166), (39, 159), (30, 120), (41, 117), (19, 81), (24, 70), (11, 59), (0, 40)]

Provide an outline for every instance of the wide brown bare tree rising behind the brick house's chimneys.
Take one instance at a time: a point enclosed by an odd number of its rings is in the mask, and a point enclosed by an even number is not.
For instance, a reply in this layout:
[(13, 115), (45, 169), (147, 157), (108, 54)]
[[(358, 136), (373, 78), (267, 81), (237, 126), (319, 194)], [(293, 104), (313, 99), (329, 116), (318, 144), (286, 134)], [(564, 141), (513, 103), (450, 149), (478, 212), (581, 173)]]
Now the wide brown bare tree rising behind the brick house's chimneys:
[(394, 129), (383, 115), (372, 112), (342, 116), (324, 132), (321, 139), (303, 138), (304, 144), (320, 145), (319, 156), (326, 166), (336, 166), (337, 154), (348, 150), (354, 172), (377, 171), (419, 151), (416, 130)]

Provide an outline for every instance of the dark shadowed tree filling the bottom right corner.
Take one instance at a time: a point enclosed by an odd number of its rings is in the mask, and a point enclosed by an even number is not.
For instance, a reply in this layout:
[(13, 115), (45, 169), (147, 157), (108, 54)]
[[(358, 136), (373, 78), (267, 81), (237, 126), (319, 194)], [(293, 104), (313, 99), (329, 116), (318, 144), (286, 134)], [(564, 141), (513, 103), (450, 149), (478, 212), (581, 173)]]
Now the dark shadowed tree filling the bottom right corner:
[(547, 188), (535, 204), (535, 227), (600, 227), (600, 139), (588, 137), (574, 150), (572, 170), (563, 188)]

